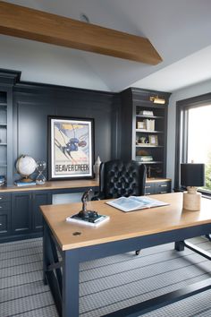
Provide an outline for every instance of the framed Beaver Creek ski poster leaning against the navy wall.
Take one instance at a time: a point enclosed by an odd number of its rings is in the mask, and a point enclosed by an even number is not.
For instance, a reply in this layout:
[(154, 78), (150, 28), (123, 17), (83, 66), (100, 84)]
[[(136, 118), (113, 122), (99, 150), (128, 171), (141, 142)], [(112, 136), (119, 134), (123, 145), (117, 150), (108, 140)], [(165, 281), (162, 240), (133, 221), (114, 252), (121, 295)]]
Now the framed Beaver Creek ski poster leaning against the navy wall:
[(93, 178), (94, 119), (48, 116), (48, 179)]

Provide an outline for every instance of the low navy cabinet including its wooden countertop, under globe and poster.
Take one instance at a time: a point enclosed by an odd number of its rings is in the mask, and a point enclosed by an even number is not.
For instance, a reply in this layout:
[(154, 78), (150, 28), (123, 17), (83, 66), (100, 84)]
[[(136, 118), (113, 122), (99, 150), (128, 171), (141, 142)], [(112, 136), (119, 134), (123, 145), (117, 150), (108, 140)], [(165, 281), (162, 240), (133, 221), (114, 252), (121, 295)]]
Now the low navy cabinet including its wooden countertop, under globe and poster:
[[(74, 181), (72, 181), (74, 182)], [(82, 193), (92, 188), (98, 190), (93, 180), (72, 183), (47, 182), (46, 188), (37, 185), (28, 188), (0, 189), (0, 243), (42, 236), (43, 218), (39, 210), (41, 205), (52, 204), (54, 194)]]

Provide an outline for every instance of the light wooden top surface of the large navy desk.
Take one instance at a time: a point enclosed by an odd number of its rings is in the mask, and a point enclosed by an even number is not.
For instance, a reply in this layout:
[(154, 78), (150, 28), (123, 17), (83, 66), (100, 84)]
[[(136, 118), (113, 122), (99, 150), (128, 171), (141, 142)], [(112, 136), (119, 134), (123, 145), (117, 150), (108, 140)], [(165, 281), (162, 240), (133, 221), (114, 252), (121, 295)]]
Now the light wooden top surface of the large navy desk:
[[(88, 210), (97, 210), (100, 214), (110, 217), (99, 227), (65, 221), (65, 218), (81, 210), (81, 203), (46, 205), (41, 206), (41, 211), (62, 250), (211, 223), (209, 199), (202, 198), (200, 211), (189, 211), (182, 210), (182, 193), (166, 193), (150, 197), (168, 202), (169, 205), (122, 212), (109, 206), (105, 201), (89, 201)], [(81, 233), (80, 236), (73, 236), (76, 231)]]

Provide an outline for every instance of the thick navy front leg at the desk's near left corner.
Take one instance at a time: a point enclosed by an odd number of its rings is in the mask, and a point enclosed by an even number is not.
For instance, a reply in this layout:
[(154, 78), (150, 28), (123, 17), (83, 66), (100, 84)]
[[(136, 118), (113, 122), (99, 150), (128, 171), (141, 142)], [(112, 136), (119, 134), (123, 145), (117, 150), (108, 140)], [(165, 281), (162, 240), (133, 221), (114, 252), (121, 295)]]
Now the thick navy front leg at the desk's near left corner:
[(63, 251), (63, 317), (79, 317), (78, 250)]

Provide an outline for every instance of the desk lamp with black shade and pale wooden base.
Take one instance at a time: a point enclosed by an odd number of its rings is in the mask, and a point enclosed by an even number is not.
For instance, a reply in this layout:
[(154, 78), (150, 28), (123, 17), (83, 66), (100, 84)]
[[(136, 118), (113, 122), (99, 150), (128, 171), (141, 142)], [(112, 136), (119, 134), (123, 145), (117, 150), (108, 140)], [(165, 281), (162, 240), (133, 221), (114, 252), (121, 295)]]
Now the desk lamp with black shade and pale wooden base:
[(205, 185), (205, 165), (196, 163), (181, 164), (181, 185), (187, 187), (183, 193), (183, 209), (200, 210), (201, 194), (197, 187)]

